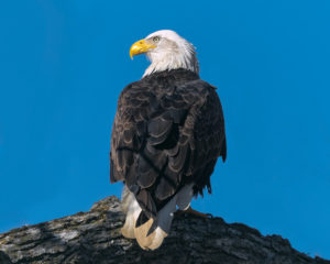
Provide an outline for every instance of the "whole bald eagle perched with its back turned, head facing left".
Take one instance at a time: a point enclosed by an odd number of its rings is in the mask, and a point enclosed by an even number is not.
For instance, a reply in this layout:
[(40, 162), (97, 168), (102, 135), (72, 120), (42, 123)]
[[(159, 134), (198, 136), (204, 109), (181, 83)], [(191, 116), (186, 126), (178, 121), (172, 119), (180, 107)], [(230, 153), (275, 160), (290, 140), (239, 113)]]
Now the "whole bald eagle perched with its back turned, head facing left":
[(216, 88), (199, 78), (195, 47), (174, 31), (134, 43), (133, 57), (151, 65), (118, 100), (111, 133), (110, 180), (124, 182), (122, 234), (157, 249), (174, 212), (211, 193), (210, 176), (227, 155), (224, 119)]

